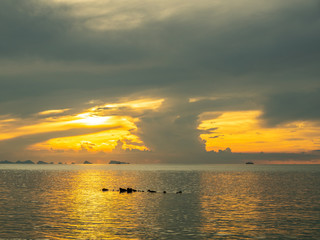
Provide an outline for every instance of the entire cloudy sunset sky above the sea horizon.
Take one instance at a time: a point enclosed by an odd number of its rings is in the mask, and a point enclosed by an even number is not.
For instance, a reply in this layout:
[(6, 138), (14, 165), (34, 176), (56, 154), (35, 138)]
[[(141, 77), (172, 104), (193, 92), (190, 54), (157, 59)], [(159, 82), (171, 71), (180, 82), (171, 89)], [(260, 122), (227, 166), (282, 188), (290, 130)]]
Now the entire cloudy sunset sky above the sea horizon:
[(317, 0), (0, 1), (0, 160), (320, 163)]

